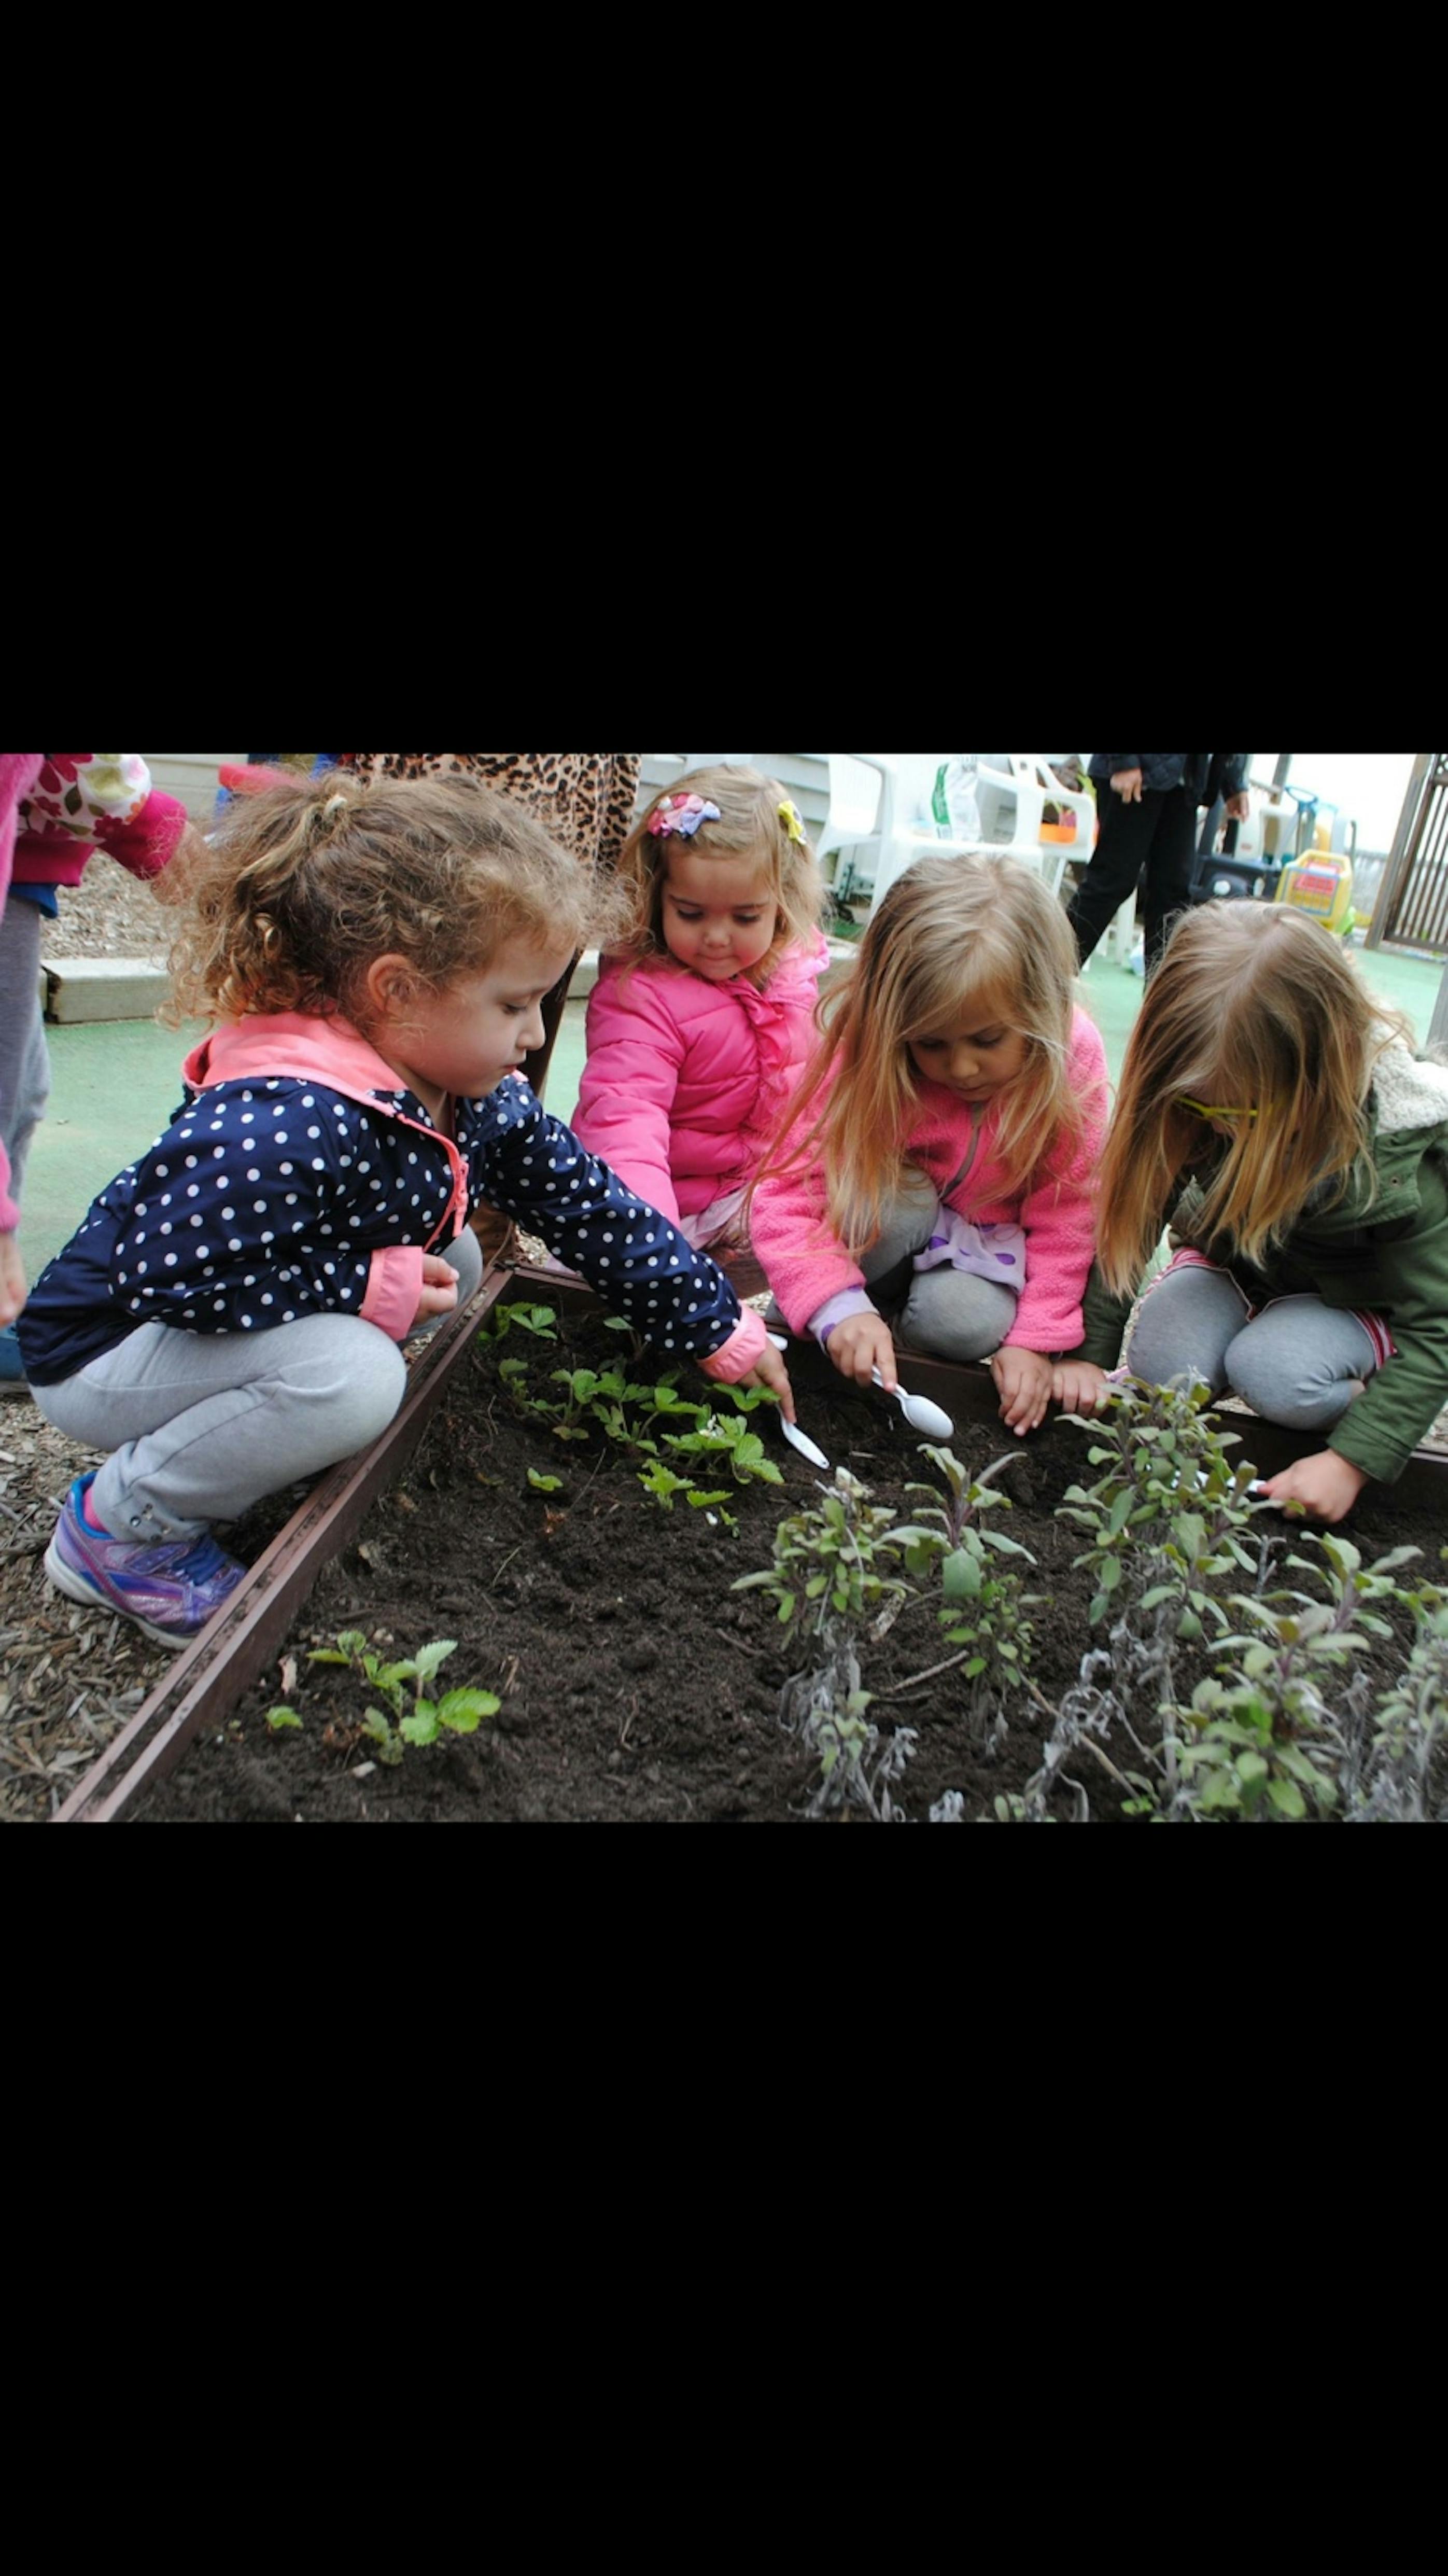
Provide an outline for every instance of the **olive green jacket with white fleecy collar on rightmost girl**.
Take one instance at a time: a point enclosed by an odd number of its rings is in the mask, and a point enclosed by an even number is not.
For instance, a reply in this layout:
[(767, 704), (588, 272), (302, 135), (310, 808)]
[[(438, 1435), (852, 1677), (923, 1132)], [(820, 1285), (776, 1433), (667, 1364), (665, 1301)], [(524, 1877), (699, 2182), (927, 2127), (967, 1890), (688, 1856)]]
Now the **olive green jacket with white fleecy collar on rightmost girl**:
[[(1172, 1234), (1211, 1260), (1193, 1231), (1201, 1188), (1167, 1208)], [(1306, 1208), (1268, 1270), (1224, 1262), (1252, 1306), (1319, 1296), (1324, 1306), (1384, 1316), (1396, 1355), (1342, 1414), (1327, 1443), (1363, 1476), (1394, 1484), (1448, 1406), (1448, 1066), (1404, 1046), (1378, 1061), (1371, 1100), (1371, 1177), (1335, 1208)], [(1113, 1298), (1092, 1270), (1085, 1342), (1074, 1358), (1116, 1368), (1134, 1298)]]

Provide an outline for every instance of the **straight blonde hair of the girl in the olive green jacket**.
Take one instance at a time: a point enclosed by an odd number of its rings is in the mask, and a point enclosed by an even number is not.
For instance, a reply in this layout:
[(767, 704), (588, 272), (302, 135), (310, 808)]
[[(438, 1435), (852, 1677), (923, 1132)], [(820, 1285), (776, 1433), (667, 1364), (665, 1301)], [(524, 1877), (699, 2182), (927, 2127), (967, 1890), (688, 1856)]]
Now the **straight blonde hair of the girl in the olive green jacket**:
[[(1201, 904), (1177, 922), (1131, 1030), (1100, 1164), (1098, 1257), (1134, 1296), (1172, 1190), (1203, 1164), (1193, 1234), (1255, 1267), (1324, 1190), (1371, 1185), (1368, 1095), (1407, 1023), (1301, 912)], [(1257, 1110), (1208, 1128), (1183, 1100)], [(1221, 1136), (1224, 1151), (1211, 1149)]]

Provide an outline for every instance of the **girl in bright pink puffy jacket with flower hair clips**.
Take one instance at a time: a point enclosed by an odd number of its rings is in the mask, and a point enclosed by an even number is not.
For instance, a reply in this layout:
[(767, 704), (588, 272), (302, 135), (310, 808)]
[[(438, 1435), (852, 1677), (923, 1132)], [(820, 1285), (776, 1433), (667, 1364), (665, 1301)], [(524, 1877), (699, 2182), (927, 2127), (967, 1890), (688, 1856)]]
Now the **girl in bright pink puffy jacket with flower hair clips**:
[(587, 1005), (575, 1133), (696, 1249), (745, 1198), (814, 1041), (830, 951), (794, 801), (763, 770), (693, 770), (631, 832), (634, 930)]

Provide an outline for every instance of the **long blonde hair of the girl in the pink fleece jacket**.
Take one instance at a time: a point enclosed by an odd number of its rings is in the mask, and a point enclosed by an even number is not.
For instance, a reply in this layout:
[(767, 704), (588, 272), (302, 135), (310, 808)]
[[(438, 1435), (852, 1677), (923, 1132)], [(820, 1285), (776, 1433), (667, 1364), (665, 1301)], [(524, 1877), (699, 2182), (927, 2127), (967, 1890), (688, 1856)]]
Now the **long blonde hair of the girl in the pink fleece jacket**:
[(824, 1167), (835, 1236), (858, 1257), (879, 1239), (920, 1115), (917, 1038), (1007, 1007), (1025, 1038), (1020, 1079), (1000, 1095), (992, 1139), (1010, 1190), (1025, 1193), (1059, 1139), (1085, 1136), (1072, 1090), (1077, 943), (1062, 904), (1010, 858), (925, 858), (889, 889), (858, 961), (819, 1002), (819, 1043), (768, 1170)]

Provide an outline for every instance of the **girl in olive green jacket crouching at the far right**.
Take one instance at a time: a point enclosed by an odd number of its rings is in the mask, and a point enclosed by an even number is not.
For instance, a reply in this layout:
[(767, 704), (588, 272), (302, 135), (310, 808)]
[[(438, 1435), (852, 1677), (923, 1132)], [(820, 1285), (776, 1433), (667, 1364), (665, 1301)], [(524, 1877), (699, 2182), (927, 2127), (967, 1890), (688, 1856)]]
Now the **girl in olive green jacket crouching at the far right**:
[(1092, 1412), (1131, 1376), (1206, 1378), (1324, 1448), (1265, 1486), (1317, 1520), (1394, 1484), (1448, 1406), (1448, 1066), (1299, 912), (1206, 904), (1180, 922), (1134, 1028), (1100, 1170), (1080, 1352)]

